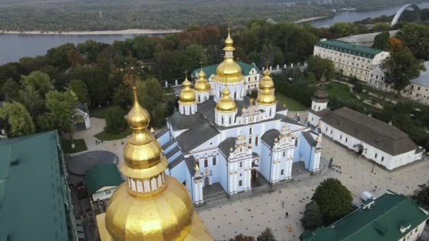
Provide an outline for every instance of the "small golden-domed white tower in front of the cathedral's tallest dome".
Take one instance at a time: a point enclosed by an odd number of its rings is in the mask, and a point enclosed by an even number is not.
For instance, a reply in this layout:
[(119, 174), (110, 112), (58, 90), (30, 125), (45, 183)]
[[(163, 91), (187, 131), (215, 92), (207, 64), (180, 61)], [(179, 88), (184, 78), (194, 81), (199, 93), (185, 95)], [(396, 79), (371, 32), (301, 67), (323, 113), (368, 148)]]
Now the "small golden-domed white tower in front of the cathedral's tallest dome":
[(237, 115), (236, 102), (229, 96), (231, 92), (228, 87), (222, 90), (222, 98), (217, 101), (214, 109), (214, 121), (217, 125), (234, 125)]

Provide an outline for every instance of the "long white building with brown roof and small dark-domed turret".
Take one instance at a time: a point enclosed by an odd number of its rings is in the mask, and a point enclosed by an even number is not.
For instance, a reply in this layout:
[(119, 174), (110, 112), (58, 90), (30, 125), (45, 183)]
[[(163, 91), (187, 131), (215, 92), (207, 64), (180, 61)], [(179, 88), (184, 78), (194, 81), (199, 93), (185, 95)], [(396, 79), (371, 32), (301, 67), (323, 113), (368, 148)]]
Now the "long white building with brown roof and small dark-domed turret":
[(332, 140), (388, 170), (422, 159), (425, 150), (398, 128), (346, 107), (330, 111), (327, 102), (327, 93), (320, 85), (308, 121)]

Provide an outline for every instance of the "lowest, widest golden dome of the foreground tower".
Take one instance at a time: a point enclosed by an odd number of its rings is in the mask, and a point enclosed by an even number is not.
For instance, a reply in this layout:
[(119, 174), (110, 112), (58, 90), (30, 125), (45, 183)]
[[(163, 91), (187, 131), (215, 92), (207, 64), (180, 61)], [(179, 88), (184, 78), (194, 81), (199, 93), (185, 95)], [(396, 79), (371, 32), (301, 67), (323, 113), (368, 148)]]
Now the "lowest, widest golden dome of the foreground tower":
[(116, 189), (105, 214), (113, 240), (213, 240), (186, 187), (169, 175), (165, 180), (167, 188), (152, 197), (128, 194), (127, 183)]

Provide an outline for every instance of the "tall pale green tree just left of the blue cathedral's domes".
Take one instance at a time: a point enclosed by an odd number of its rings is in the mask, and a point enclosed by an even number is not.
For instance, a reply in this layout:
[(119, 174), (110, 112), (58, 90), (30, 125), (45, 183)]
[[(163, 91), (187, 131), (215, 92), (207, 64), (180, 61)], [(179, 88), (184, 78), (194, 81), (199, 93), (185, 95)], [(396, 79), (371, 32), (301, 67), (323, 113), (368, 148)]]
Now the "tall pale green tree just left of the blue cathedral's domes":
[(151, 125), (155, 127), (164, 125), (168, 104), (159, 81), (154, 78), (138, 81), (136, 87), (140, 104), (150, 113)]

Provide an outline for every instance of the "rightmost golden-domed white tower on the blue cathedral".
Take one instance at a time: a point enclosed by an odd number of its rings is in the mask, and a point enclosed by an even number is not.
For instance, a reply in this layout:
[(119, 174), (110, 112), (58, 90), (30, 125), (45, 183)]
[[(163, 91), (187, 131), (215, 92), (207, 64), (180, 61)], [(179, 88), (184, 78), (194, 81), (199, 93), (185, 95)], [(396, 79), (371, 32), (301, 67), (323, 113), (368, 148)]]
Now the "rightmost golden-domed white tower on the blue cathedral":
[(264, 70), (264, 77), (259, 82), (259, 94), (256, 99), (258, 108), (265, 113), (265, 117), (272, 118), (276, 115), (277, 100), (274, 96), (274, 82), (270, 77), (270, 70)]

